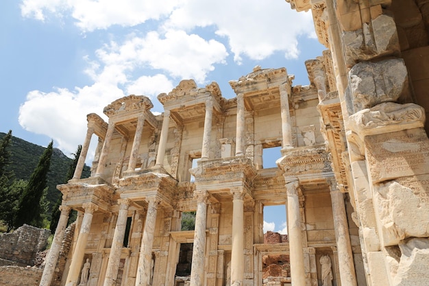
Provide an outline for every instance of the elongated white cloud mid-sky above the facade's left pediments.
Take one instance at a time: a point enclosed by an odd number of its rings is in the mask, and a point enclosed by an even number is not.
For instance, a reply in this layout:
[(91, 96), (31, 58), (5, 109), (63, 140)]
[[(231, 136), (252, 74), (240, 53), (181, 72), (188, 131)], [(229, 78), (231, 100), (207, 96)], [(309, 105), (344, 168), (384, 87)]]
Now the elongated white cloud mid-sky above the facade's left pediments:
[(97, 55), (108, 66), (120, 66), (115, 71), (143, 66), (161, 69), (179, 80), (193, 78), (204, 83), (207, 74), (215, 69), (214, 64), (225, 63), (228, 53), (216, 40), (171, 30), (164, 36), (153, 31), (143, 38), (134, 36), (123, 44), (111, 42), (97, 50)]

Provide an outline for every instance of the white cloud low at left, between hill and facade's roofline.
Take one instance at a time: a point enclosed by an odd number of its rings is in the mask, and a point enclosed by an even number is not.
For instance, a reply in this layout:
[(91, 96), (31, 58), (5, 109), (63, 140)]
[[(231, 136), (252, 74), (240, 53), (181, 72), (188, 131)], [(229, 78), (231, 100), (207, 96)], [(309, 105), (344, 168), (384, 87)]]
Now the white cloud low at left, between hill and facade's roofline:
[(51, 93), (31, 91), (19, 108), (19, 124), (25, 130), (49, 136), (60, 150), (71, 154), (84, 141), (86, 115), (103, 115), (103, 107), (122, 96), (116, 86), (101, 84), (77, 88), (75, 92), (66, 88)]

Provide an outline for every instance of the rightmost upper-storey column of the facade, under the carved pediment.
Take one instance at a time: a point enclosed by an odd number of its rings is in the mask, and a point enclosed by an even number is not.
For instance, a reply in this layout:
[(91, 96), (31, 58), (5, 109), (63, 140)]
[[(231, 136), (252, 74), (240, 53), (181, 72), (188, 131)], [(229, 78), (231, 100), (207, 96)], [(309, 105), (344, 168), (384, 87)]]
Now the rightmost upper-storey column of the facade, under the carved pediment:
[(289, 95), (291, 94), (291, 85), (288, 82), (280, 84), (280, 112), (282, 117), (282, 135), (283, 149), (291, 149), (292, 131), (291, 131), (291, 115), (289, 112)]

